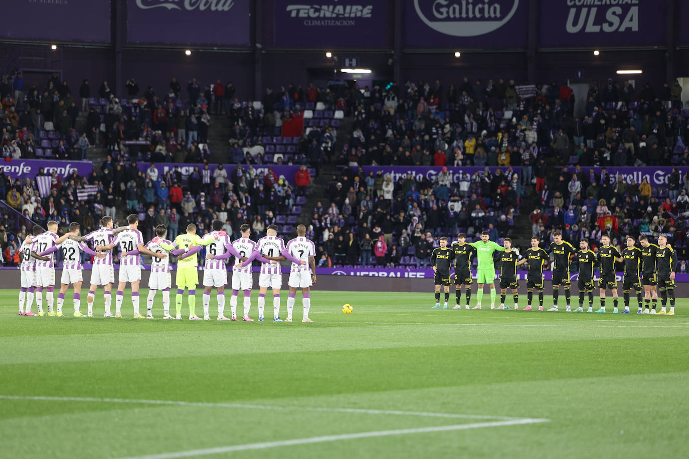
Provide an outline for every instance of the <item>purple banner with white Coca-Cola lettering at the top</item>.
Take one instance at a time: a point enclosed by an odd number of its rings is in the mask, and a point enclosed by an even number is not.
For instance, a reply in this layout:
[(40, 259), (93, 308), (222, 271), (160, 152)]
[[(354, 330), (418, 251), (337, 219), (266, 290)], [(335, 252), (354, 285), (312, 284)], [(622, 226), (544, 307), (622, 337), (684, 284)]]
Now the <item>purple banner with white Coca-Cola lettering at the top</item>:
[(245, 47), (251, 0), (127, 0), (127, 42)]

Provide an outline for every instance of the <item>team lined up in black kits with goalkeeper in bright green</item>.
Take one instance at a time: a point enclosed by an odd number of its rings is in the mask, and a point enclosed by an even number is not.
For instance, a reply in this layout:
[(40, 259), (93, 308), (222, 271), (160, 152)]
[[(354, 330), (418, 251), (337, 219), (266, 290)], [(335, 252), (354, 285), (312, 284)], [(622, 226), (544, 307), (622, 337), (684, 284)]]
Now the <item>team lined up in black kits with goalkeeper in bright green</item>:
[[(560, 288), (564, 292), (567, 312), (584, 312), (586, 297), (588, 297), (588, 312), (593, 310), (594, 267), (599, 268), (599, 301), (600, 308), (595, 312), (606, 312), (606, 292), (610, 290), (613, 297), (613, 313), (621, 312), (629, 314), (629, 302), (631, 292), (637, 295), (637, 314), (675, 314), (675, 267), (677, 256), (668, 245), (665, 235), (658, 237), (658, 244), (648, 242), (648, 237), (639, 237), (639, 246), (632, 236), (626, 237), (626, 248), (619, 252), (615, 246), (610, 245), (610, 237), (601, 237), (601, 246), (597, 253), (589, 248), (588, 239), (582, 239), (579, 250), (562, 239), (562, 233), (553, 233), (553, 243), (550, 253), (539, 246), (538, 237), (531, 238), (531, 247), (521, 255), (512, 247), (509, 237), (504, 239), (503, 245), (492, 242), (489, 233), (484, 231), (481, 240), (466, 242), (466, 235), (460, 233), (457, 240), (448, 246), (446, 237), (440, 238), (440, 247), (433, 250), (431, 264), (435, 272), (435, 306), (440, 309), (440, 289), (444, 288), (444, 305), (448, 308), (450, 297), (451, 276), (450, 270), (454, 265), (454, 284), (457, 305), (453, 309), (461, 309), (462, 287), (466, 298), (464, 308), (469, 309), (471, 300), (471, 263), (473, 257), (477, 264), (477, 303), (473, 309), (482, 308), (484, 284), (488, 284), (491, 292), (491, 309), (512, 309), (505, 306), (507, 290), (510, 289), (514, 300), (514, 309), (519, 309), (519, 282), (517, 281), (517, 266), (528, 264), (526, 275), (527, 306), (524, 310), (533, 310), (534, 290), (538, 294), (538, 310), (544, 310), (544, 268), (553, 263), (553, 306), (549, 312), (559, 311)], [(496, 256), (497, 255), (497, 256)], [(500, 306), (496, 308), (495, 298), (495, 261), (500, 267)], [(617, 279), (615, 277), (615, 263), (624, 264), (624, 277), (622, 290), (624, 292), (624, 310), (619, 310), (619, 295), (617, 291)], [(578, 267), (579, 275), (577, 288), (579, 290), (579, 307), (575, 310), (570, 306), (570, 264)], [(658, 290), (661, 295), (661, 308), (657, 308)], [(670, 302), (670, 310), (667, 311), (667, 303)]]

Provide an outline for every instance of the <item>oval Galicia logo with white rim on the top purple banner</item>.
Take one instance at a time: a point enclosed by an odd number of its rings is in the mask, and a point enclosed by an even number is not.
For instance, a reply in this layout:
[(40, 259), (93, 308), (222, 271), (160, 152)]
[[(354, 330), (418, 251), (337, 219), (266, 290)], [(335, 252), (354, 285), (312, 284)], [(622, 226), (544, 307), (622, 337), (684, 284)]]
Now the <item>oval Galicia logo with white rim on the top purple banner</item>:
[[(423, 3), (423, 8), (420, 3)], [(512, 19), (517, 7), (519, 0), (435, 0), (432, 3), (414, 0), (416, 14), (426, 25), (453, 36), (493, 32)]]

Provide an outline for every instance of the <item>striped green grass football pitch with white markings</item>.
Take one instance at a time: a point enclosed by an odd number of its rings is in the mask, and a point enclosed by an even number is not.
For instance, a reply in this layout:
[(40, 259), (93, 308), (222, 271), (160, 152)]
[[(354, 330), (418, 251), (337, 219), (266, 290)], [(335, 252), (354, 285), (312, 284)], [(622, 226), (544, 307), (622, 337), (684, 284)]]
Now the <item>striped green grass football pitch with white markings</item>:
[(71, 290), (61, 318), (19, 317), (0, 290), (0, 457), (686, 457), (688, 299), (666, 317), (315, 290), (314, 323), (300, 294), (293, 323), (269, 306), (247, 323), (163, 321), (161, 295), (130, 319), (127, 292), (125, 319), (100, 291), (88, 319)]

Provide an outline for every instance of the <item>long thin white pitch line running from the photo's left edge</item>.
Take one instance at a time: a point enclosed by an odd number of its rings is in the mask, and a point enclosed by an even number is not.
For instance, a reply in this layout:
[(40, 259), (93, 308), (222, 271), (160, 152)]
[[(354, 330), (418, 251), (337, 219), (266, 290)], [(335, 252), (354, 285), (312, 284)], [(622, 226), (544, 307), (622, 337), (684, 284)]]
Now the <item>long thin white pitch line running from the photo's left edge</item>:
[(53, 397), (53, 396), (21, 396), (0, 395), (4, 400), (32, 400), (32, 401), (56, 401), (56, 402), (94, 402), (94, 403), (130, 403), (135, 405), (176, 405), (189, 407), (213, 407), (213, 408), (238, 408), (238, 409), (272, 409), (278, 411), (308, 411), (308, 412), (333, 412), (355, 414), (387, 414), (391, 416), (423, 416), (427, 418), (455, 418), (455, 419), (497, 419), (517, 420), (510, 416), (484, 416), (480, 414), (453, 414), (430, 412), (407, 412), (394, 409), (362, 409), (362, 408), (329, 408), (329, 407), (298, 407), (279, 405), (248, 405), (243, 403), (211, 403), (211, 402), (185, 402), (173, 400), (137, 400), (130, 398), (98, 398), (98, 397)]

